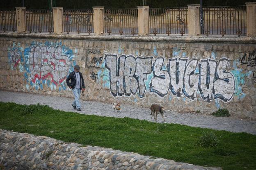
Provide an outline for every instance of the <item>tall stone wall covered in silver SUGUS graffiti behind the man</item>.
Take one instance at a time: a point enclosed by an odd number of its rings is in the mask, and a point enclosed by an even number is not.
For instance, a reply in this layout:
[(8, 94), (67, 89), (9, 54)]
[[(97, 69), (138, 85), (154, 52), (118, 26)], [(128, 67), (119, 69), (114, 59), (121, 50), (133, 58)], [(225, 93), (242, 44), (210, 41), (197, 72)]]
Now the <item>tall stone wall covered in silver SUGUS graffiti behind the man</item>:
[[(1, 89), (256, 119), (256, 39), (0, 33)], [(53, 101), (54, 102), (54, 101)]]

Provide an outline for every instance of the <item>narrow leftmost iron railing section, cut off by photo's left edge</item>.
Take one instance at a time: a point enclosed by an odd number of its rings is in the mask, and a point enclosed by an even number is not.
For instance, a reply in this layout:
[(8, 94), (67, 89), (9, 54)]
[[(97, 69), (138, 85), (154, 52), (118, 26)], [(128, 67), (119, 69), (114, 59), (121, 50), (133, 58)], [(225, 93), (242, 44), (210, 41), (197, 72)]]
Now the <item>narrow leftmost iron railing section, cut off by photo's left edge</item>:
[(17, 31), (16, 9), (0, 10), (0, 30), (1, 31)]

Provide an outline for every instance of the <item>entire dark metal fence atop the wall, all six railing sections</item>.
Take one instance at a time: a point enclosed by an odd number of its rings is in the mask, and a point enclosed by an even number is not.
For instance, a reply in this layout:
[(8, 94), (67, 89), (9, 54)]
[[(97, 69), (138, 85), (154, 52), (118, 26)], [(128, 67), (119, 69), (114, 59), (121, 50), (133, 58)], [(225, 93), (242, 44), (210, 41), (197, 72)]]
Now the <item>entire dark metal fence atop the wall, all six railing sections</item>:
[[(246, 6), (202, 7), (201, 34), (246, 35)], [(188, 34), (188, 8), (150, 8), (149, 34)], [(63, 32), (94, 32), (93, 9), (63, 9)], [(27, 32), (54, 32), (52, 9), (26, 9)], [(138, 9), (104, 9), (103, 32), (138, 34)], [(0, 31), (17, 31), (15, 9), (0, 9)]]

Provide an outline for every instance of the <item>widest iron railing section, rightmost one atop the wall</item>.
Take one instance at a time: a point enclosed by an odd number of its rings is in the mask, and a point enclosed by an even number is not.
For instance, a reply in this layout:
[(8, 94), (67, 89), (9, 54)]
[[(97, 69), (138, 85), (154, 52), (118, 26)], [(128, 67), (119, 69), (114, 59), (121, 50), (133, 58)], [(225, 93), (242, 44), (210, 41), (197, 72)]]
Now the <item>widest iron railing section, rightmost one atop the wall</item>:
[(201, 34), (245, 35), (246, 6), (203, 7)]

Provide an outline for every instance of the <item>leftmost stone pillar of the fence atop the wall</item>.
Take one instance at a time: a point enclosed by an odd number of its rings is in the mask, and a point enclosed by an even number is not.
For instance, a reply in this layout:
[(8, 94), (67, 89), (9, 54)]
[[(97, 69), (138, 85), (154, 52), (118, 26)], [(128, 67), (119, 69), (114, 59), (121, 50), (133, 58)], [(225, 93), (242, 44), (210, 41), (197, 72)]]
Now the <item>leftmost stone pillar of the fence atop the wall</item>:
[(17, 32), (26, 32), (26, 7), (16, 7)]

